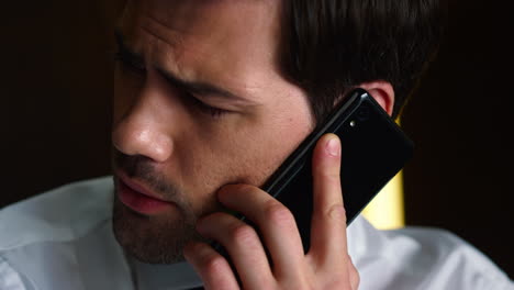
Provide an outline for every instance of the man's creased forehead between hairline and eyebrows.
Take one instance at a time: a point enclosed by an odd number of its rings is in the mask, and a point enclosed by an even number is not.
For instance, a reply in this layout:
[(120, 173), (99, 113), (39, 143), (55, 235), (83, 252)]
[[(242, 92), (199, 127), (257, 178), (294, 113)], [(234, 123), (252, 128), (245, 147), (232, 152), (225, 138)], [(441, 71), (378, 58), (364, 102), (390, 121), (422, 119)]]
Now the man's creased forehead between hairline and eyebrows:
[(132, 49), (183, 78), (252, 88), (278, 77), (279, 3), (130, 0), (119, 27)]

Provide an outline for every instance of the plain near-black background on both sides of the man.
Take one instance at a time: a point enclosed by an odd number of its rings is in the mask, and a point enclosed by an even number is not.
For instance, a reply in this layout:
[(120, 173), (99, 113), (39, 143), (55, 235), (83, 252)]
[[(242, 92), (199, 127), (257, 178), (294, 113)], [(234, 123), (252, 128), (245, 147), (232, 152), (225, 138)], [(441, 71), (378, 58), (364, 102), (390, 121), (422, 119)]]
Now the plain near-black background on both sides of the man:
[[(25, 1), (0, 25), (0, 207), (109, 168), (115, 3)], [(409, 225), (469, 241), (514, 277), (512, 18), (449, 4), (440, 53), (405, 108)], [(512, 11), (512, 10), (511, 10)]]

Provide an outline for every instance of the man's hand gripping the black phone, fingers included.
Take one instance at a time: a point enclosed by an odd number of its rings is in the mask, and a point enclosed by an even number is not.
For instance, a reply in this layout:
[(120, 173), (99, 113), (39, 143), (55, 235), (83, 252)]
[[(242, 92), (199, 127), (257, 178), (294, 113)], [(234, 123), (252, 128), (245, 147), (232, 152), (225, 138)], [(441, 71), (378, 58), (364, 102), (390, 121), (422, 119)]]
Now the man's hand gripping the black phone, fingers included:
[(242, 283), (238, 285), (227, 260), (210, 245), (191, 243), (185, 255), (205, 288), (357, 289), (359, 275), (348, 256), (339, 167), (339, 140), (327, 134), (317, 142), (313, 155), (314, 209), (306, 255), (294, 217), (284, 205), (253, 186), (223, 187), (220, 202), (253, 221), (262, 242), (252, 226), (227, 213), (201, 219), (197, 225), (199, 233), (225, 247)]

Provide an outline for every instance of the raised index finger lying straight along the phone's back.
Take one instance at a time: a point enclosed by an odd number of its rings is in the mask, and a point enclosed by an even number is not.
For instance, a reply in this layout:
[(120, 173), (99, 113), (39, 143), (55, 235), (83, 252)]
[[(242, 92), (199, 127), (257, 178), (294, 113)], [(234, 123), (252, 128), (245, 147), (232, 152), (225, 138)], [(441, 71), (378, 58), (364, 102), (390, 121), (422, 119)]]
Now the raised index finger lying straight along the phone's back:
[(320, 138), (312, 158), (313, 214), (309, 256), (317, 266), (343, 267), (347, 258), (346, 213), (340, 188), (340, 141)]

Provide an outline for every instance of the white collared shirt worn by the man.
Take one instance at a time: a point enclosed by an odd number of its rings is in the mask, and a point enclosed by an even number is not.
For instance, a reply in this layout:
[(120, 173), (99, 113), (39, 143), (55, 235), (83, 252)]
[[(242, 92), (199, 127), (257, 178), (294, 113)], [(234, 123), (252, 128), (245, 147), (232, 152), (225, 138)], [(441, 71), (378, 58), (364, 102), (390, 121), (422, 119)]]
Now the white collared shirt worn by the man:
[[(0, 290), (190, 289), (187, 263), (127, 259), (112, 234), (110, 177), (75, 182), (0, 210)], [(434, 228), (377, 231), (357, 217), (348, 249), (360, 290), (513, 290), (488, 257)]]

